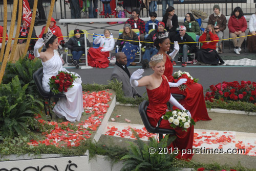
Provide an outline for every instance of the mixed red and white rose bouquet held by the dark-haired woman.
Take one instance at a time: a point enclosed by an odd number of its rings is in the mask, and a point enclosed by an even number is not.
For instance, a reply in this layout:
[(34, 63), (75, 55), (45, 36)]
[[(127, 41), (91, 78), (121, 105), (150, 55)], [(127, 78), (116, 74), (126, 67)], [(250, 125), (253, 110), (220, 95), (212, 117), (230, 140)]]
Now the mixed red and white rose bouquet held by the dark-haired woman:
[(188, 85), (197, 83), (199, 79), (195, 79), (192, 76), (190, 76), (190, 74), (188, 72), (185, 71), (181, 71), (179, 70), (178, 72), (174, 72), (174, 78), (175, 79), (187, 79), (186, 83), (182, 84), (179, 86), (180, 90), (185, 90), (186, 88), (188, 88)]

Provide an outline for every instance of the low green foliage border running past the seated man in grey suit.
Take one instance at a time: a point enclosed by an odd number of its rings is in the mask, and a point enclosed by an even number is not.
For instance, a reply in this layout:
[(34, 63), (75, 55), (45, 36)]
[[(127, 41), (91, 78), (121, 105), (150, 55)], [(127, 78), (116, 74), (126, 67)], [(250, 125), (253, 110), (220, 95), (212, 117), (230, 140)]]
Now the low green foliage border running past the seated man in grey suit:
[(116, 100), (122, 104), (139, 105), (143, 100), (148, 100), (147, 96), (144, 97), (125, 97), (122, 90), (122, 83), (118, 81), (109, 81), (108, 85), (100, 84), (82, 84), (83, 91), (101, 91), (105, 89), (113, 89), (116, 92)]

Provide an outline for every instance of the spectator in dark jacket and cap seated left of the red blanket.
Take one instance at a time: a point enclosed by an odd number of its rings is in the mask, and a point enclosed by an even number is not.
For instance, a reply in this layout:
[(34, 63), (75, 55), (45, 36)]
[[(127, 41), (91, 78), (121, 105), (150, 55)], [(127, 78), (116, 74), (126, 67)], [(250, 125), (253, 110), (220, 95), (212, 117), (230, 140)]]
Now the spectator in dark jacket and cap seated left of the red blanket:
[[(75, 29), (74, 36), (71, 37), (65, 44), (65, 46), (71, 50), (71, 54), (73, 56), (73, 65), (76, 66), (76, 68), (79, 68), (79, 60), (82, 54), (85, 53), (84, 35), (81, 35), (81, 33), (83, 33), (81, 30)], [(86, 41), (87, 47), (90, 47), (91, 43), (88, 39), (86, 39)]]

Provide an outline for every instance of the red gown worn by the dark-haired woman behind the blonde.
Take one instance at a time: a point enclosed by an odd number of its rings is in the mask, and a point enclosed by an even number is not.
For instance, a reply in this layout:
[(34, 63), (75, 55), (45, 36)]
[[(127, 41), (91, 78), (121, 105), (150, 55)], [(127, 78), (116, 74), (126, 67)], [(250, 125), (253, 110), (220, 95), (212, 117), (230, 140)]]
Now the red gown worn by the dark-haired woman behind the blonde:
[[(164, 75), (167, 77), (169, 82), (177, 82), (173, 78), (173, 64), (169, 58), (166, 57)], [(211, 120), (208, 116), (204, 101), (204, 90), (201, 84), (195, 83), (188, 85), (186, 91), (181, 91), (178, 87), (171, 87), (170, 92), (173, 94), (183, 94), (186, 96), (185, 99), (179, 100), (179, 103), (184, 106), (186, 110), (189, 110), (192, 118), (195, 121), (198, 120)], [(175, 109), (176, 107), (174, 107)]]

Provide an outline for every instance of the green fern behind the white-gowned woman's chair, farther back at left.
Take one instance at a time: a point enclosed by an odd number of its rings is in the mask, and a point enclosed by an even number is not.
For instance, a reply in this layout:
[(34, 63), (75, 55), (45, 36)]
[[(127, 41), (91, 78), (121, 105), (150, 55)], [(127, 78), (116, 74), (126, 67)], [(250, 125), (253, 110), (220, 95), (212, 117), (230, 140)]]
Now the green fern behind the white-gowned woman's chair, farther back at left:
[(28, 60), (27, 58), (19, 59), (16, 63), (8, 63), (5, 69), (2, 84), (8, 84), (15, 76), (18, 76), (20, 85), (23, 87), (29, 84), (26, 93), (37, 97), (39, 94), (33, 80), (33, 73), (42, 67), (41, 60)]

